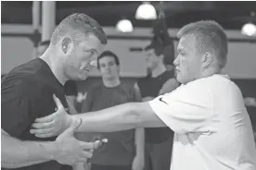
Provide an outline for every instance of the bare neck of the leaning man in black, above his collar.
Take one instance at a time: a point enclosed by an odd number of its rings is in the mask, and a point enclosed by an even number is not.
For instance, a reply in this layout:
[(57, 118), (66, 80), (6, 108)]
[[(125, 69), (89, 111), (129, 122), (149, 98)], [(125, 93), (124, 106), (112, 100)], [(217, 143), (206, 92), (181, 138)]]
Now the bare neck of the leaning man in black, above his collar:
[(44, 55), (40, 57), (45, 61), (45, 63), (50, 67), (54, 76), (58, 81), (64, 86), (65, 82), (68, 80), (63, 74), (63, 66), (59, 64), (58, 57), (51, 53), (49, 49), (45, 52)]

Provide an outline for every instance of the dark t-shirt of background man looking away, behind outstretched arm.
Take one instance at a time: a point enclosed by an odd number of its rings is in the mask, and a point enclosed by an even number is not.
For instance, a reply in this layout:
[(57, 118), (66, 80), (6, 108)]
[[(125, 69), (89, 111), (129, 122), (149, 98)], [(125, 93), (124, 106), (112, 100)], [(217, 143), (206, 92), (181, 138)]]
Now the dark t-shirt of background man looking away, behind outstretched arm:
[[(163, 84), (174, 78), (173, 71), (165, 71), (160, 76), (152, 78), (147, 75), (146, 78), (139, 79), (137, 84), (141, 92), (141, 97), (157, 97)], [(147, 143), (161, 143), (173, 138), (173, 130), (170, 128), (145, 128), (145, 141)]]

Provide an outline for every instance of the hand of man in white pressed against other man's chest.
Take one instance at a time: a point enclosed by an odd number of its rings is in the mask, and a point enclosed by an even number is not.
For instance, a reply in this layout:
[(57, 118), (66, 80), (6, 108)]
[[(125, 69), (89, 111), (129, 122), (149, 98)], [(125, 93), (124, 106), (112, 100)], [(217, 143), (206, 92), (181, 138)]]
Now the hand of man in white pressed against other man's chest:
[(52, 115), (36, 118), (32, 124), (31, 133), (38, 138), (49, 138), (58, 136), (70, 127), (72, 122), (71, 115), (68, 115), (59, 99), (53, 96), (58, 110)]

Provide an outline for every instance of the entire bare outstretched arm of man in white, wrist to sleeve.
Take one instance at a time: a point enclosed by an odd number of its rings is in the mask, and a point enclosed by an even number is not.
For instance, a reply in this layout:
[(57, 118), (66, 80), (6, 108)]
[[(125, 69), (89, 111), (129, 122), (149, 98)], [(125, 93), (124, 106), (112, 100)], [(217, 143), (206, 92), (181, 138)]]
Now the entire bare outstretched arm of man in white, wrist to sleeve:
[(111, 132), (131, 128), (156, 128), (166, 125), (149, 103), (124, 103), (97, 112), (70, 115), (71, 122), (82, 118), (78, 132)]

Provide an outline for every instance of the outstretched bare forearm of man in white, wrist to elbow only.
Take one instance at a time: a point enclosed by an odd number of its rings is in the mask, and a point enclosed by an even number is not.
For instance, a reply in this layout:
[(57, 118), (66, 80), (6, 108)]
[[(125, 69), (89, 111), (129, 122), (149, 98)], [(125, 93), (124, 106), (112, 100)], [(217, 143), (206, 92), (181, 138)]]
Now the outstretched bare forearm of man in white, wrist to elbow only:
[(137, 103), (125, 103), (97, 112), (71, 115), (72, 120), (82, 118), (78, 131), (111, 132), (136, 128), (139, 125)]

